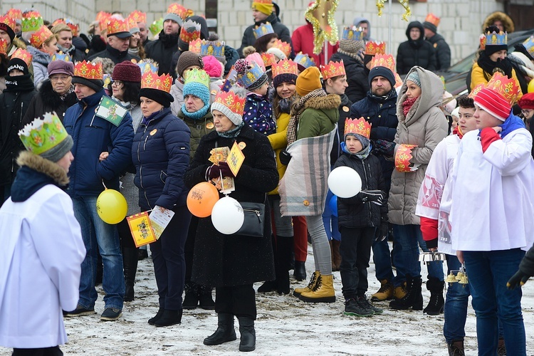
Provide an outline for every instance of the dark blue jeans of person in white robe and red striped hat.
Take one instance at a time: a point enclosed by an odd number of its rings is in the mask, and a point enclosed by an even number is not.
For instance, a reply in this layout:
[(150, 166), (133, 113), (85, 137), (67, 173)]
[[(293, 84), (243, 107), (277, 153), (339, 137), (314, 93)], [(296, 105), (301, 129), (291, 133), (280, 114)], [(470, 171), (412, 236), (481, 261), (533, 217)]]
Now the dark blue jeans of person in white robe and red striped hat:
[(526, 355), (521, 288), (509, 290), (506, 282), (518, 271), (525, 251), (464, 251), (473, 309), (476, 313), (478, 355), (496, 355), (498, 320), (503, 324), (507, 355)]

